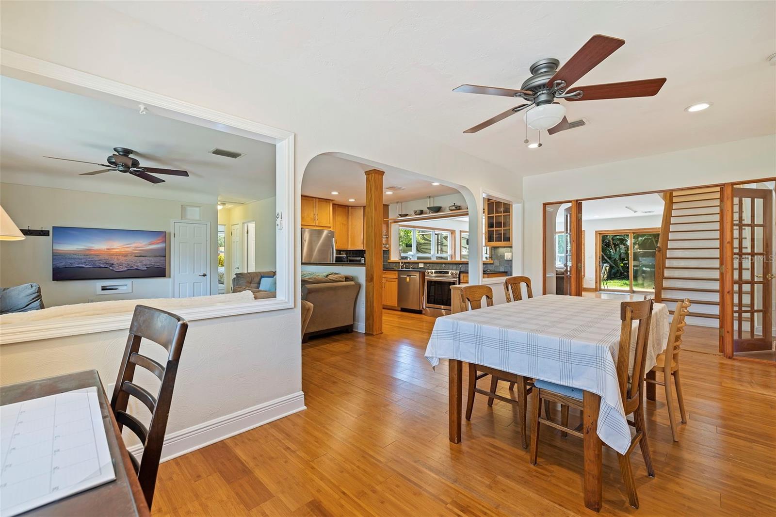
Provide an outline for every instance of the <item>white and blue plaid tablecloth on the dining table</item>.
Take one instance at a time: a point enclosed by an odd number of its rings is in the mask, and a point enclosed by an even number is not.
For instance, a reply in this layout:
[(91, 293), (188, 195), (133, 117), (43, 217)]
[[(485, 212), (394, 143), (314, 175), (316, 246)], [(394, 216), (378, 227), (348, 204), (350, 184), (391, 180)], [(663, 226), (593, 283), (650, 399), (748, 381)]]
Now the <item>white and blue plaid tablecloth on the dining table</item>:
[[(668, 307), (655, 304), (646, 371), (668, 339)], [(459, 359), (601, 395), (598, 436), (625, 453), (631, 434), (617, 382), (620, 302), (546, 294), (438, 317), (426, 359)], [(631, 363), (636, 349), (632, 334)], [(632, 373), (632, 368), (631, 368)]]

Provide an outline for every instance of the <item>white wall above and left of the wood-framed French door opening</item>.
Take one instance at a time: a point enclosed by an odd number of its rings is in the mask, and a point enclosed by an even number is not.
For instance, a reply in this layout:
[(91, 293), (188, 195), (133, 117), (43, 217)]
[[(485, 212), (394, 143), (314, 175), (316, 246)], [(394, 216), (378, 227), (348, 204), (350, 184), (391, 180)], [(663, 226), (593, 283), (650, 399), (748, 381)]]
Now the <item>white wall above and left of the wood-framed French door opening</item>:
[(542, 203), (677, 189), (776, 175), (776, 135), (527, 176), (525, 274), (542, 286)]

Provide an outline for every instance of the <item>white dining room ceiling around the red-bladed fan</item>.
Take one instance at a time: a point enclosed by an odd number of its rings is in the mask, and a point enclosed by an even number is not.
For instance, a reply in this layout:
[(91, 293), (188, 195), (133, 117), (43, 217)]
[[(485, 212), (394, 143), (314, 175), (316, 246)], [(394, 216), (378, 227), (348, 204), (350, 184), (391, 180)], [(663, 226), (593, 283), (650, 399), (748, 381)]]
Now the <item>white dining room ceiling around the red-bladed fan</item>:
[[(390, 117), (521, 175), (776, 132), (776, 2), (109, 2), (145, 23)], [(566, 61), (593, 34), (625, 45), (577, 85), (667, 77), (656, 97), (567, 103), (590, 125), (522, 144), (512, 116), (462, 130), (514, 99), (451, 92), (516, 88), (543, 57)], [(695, 102), (712, 109), (685, 113)], [(289, 127), (293, 130), (293, 127)], [(624, 171), (623, 173), (627, 173)]]

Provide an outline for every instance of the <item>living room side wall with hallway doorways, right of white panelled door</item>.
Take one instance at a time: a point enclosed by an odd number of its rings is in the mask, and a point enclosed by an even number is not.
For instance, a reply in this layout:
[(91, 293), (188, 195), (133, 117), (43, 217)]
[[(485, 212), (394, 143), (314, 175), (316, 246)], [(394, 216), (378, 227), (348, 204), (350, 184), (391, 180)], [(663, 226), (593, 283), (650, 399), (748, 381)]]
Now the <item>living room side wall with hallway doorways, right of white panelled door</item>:
[[(254, 201), (244, 205), (232, 206), (218, 210), (218, 224), (226, 226), (226, 237), (224, 238), (224, 276), (226, 280), (226, 292), (231, 292), (232, 287), (232, 239), (230, 229), (232, 224), (240, 224), (240, 231), (243, 231), (243, 223), (250, 221), (256, 223), (256, 269), (255, 271), (275, 271), (275, 251), (277, 249), (277, 239), (275, 238), (275, 198), (270, 197), (266, 200)], [(244, 234), (243, 234), (244, 242)], [(244, 250), (244, 248), (243, 248)], [(240, 255), (240, 271), (247, 272), (245, 267), (245, 253), (238, 250)]]

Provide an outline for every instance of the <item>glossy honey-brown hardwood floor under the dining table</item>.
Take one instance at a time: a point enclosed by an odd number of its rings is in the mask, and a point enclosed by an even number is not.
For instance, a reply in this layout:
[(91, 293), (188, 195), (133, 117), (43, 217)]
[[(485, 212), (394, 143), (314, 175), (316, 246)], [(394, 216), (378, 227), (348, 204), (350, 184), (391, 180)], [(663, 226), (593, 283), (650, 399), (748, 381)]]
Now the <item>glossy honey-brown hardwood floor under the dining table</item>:
[[(478, 397), (451, 444), (447, 363), (434, 371), (423, 356), (434, 320), (384, 314), (382, 335), (303, 345), (306, 411), (163, 463), (154, 515), (594, 515), (581, 440), (542, 429), (532, 467), (511, 404)], [(646, 402), (656, 477), (637, 449), (634, 510), (605, 447), (601, 515), (776, 513), (776, 368), (695, 352), (681, 360), (680, 442), (657, 390)], [(570, 422), (580, 422), (573, 410)]]

